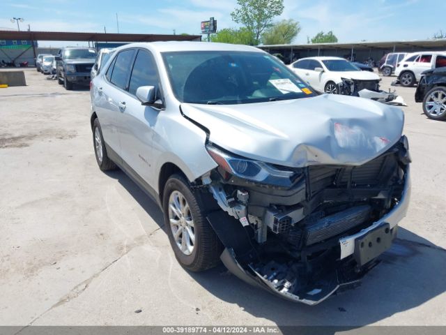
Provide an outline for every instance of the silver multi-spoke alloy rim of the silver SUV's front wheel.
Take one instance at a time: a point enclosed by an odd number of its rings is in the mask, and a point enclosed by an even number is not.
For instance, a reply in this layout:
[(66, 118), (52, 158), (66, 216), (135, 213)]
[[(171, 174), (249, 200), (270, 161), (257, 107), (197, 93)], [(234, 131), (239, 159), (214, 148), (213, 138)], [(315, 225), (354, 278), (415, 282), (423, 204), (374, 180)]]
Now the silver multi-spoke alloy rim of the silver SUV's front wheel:
[(190, 255), (195, 247), (194, 220), (185, 196), (179, 191), (169, 197), (169, 222), (176, 246)]

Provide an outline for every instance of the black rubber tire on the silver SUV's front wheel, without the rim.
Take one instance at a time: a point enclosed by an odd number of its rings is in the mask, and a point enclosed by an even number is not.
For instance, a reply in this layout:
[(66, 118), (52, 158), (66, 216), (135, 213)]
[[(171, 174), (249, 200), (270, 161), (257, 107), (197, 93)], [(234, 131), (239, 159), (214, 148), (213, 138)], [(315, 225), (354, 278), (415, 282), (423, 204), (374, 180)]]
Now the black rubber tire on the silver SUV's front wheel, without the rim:
[[(193, 250), (190, 255), (183, 253), (176, 244), (169, 219), (169, 198), (176, 191), (185, 198), (194, 223), (192, 231), (195, 238)], [(173, 174), (164, 186), (162, 203), (167, 235), (169, 236), (171, 247), (180, 265), (190, 271), (204, 271), (218, 265), (223, 246), (206, 219), (206, 214), (212, 205), (206, 204), (203, 195), (199, 191), (192, 191), (190, 184), (183, 176)], [(183, 239), (183, 233), (181, 233), (181, 236)]]

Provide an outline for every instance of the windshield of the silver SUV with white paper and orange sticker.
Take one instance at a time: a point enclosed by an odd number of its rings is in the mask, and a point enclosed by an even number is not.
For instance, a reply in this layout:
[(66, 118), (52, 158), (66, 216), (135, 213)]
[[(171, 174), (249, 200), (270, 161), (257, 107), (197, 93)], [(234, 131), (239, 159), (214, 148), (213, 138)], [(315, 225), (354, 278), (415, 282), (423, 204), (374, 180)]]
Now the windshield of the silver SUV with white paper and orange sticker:
[(183, 103), (259, 103), (315, 95), (286, 66), (261, 52), (164, 52), (162, 57)]

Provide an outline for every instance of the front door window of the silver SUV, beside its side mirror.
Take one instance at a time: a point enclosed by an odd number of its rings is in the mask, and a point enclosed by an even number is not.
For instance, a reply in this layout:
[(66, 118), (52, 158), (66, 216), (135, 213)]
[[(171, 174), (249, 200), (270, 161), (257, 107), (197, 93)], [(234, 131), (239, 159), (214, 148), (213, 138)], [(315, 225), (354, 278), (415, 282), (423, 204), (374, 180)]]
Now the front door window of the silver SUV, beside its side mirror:
[(134, 61), (132, 77), (130, 77), (129, 93), (135, 95), (138, 87), (141, 86), (157, 87), (158, 82), (155, 60), (149, 52), (139, 50)]

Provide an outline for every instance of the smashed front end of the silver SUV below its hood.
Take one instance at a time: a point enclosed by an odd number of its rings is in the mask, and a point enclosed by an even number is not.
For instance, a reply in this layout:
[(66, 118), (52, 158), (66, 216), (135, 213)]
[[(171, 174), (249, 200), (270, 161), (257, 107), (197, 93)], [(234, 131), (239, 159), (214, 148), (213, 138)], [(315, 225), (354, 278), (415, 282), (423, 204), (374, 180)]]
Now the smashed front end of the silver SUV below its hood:
[(363, 165), (289, 168), (208, 143), (218, 167), (202, 177), (222, 210), (208, 221), (236, 276), (292, 301), (318, 304), (355, 286), (397, 234), (410, 193), (405, 136)]

